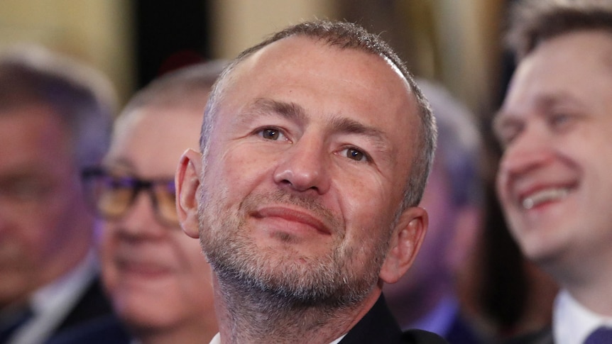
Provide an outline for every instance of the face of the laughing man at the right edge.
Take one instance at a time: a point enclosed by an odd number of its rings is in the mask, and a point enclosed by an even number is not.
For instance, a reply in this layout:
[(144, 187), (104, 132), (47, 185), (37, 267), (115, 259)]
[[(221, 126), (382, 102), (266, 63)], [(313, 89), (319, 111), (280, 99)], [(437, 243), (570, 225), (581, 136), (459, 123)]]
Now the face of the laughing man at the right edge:
[(542, 43), (520, 63), (496, 118), (510, 228), (528, 257), (553, 268), (612, 262), (610, 56), (612, 35), (598, 31)]

